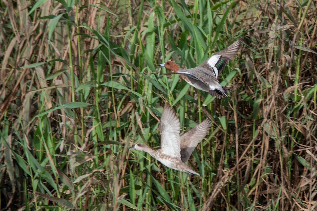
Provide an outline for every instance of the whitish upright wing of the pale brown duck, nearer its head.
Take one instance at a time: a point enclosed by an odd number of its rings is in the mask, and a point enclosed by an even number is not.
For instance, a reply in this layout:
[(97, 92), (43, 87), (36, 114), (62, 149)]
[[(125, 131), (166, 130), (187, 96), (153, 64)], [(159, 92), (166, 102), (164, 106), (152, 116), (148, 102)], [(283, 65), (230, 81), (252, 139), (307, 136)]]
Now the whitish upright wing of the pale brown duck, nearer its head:
[(165, 104), (159, 130), (161, 132), (161, 152), (180, 160), (179, 119), (174, 109)]

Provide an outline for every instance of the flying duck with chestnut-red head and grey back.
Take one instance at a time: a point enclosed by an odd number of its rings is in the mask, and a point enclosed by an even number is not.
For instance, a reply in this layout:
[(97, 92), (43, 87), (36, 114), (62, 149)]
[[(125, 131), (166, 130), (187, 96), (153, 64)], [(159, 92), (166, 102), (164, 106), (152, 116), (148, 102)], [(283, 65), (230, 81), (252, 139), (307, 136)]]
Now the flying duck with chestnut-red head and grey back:
[(239, 51), (241, 44), (242, 39), (240, 38), (229, 47), (211, 56), (198, 67), (191, 69), (183, 69), (171, 60), (160, 65), (175, 71), (169, 74), (180, 74), (180, 77), (193, 87), (206, 91), (211, 96), (222, 98), (227, 96), (228, 87), (221, 86), (217, 77)]

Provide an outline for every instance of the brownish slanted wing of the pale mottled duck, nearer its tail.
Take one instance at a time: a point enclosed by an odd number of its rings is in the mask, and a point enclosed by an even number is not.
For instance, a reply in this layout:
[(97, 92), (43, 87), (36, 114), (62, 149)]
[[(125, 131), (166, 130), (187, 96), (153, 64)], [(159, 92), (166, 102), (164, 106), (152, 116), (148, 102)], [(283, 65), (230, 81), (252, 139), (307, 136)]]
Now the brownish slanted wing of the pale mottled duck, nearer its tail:
[(204, 139), (210, 129), (210, 120), (206, 119), (190, 131), (180, 137), (180, 156), (182, 162), (186, 162), (197, 144)]

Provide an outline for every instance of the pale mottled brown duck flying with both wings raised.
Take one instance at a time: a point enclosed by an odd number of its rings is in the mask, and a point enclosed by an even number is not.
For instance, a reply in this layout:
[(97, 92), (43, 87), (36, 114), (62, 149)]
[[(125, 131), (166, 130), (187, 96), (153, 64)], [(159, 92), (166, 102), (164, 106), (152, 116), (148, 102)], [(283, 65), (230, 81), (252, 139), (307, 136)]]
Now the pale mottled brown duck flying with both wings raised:
[(180, 136), (179, 119), (175, 111), (166, 104), (159, 125), (161, 132), (161, 149), (154, 151), (143, 143), (137, 143), (134, 147), (129, 147), (129, 149), (147, 152), (153, 158), (171, 169), (200, 176), (200, 174), (192, 170), (185, 162), (190, 158), (197, 144), (204, 139), (209, 129), (210, 121), (206, 119)]

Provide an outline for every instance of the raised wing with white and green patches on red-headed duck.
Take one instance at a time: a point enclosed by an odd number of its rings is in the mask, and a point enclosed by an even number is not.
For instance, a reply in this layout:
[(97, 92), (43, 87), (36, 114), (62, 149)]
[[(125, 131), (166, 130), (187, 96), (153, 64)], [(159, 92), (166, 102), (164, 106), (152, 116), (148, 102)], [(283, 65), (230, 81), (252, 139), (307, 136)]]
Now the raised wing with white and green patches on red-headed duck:
[(201, 66), (210, 70), (214, 74), (215, 78), (217, 78), (228, 62), (238, 53), (241, 44), (242, 38), (240, 37), (229, 47), (223, 49), (219, 53), (216, 53), (204, 61), (201, 65), (199, 65), (199, 67)]

